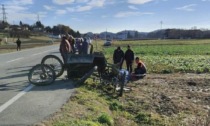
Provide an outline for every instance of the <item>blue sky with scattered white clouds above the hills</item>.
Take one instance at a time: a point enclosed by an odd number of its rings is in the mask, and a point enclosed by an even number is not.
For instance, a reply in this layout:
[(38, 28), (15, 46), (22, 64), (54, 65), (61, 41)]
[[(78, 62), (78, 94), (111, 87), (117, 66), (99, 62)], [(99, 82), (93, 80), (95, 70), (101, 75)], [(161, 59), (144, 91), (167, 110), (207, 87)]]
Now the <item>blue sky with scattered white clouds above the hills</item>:
[(210, 29), (210, 0), (0, 0), (10, 24), (63, 24), (80, 33)]

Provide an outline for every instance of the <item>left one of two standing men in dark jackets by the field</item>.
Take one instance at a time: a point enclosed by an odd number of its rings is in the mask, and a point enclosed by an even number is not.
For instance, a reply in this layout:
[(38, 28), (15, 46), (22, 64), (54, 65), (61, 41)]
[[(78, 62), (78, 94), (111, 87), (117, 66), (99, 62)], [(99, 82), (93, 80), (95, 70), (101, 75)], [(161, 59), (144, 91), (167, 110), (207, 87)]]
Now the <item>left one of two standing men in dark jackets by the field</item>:
[(122, 69), (123, 60), (124, 60), (124, 52), (121, 50), (120, 46), (118, 46), (117, 49), (114, 50), (113, 54), (114, 64), (119, 63), (120, 65), (119, 67), (120, 69)]

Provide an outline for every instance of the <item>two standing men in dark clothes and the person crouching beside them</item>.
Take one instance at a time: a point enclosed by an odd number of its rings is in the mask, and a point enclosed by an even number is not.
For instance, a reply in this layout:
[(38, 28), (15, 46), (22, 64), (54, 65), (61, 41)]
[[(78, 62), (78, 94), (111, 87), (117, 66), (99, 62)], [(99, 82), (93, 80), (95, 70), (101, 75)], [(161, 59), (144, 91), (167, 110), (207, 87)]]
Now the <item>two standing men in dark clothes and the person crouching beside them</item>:
[[(131, 50), (130, 45), (127, 46), (127, 50), (125, 51), (125, 53), (120, 48), (120, 46), (118, 46), (117, 49), (114, 50), (113, 62), (114, 64), (119, 65), (120, 70), (122, 70), (124, 60), (126, 62), (127, 71), (130, 74), (146, 74), (146, 65), (140, 60), (139, 57), (136, 57), (134, 59), (134, 52)], [(134, 60), (136, 63), (136, 67), (133, 70)]]

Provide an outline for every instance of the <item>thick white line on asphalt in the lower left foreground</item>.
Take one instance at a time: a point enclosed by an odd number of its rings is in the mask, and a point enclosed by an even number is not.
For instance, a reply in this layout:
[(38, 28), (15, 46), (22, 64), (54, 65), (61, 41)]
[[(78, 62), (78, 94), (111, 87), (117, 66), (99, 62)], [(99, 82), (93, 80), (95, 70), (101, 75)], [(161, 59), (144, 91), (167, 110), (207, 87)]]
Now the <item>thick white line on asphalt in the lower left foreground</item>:
[(30, 91), (34, 85), (30, 84), (27, 88), (25, 88), (23, 91), (21, 91), (19, 94), (17, 94), (15, 97), (4, 103), (2, 106), (0, 106), (0, 113), (4, 111), (7, 107), (9, 107), (12, 103), (14, 103), (16, 100), (18, 100), (21, 96), (23, 96), (25, 93)]

